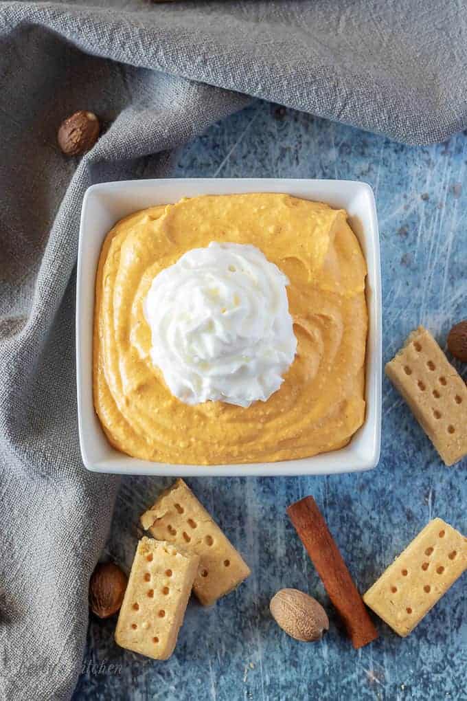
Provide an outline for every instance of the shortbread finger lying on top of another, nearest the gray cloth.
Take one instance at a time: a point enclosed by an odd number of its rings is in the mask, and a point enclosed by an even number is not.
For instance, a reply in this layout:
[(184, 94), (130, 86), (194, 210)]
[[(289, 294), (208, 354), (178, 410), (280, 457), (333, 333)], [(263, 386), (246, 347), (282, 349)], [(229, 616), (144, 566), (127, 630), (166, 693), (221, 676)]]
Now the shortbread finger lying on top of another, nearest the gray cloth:
[(200, 558), (141, 538), (115, 632), (118, 645), (154, 660), (172, 655)]

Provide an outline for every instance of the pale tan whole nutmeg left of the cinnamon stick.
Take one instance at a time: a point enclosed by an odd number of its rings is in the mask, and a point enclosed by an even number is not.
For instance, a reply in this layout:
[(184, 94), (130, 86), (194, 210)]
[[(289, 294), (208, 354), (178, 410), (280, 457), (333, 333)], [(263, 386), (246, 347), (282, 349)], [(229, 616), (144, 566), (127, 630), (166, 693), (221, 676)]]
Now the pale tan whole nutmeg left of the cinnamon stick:
[(298, 589), (279, 590), (269, 607), (277, 625), (295, 640), (311, 643), (320, 640), (329, 629), (321, 604)]

